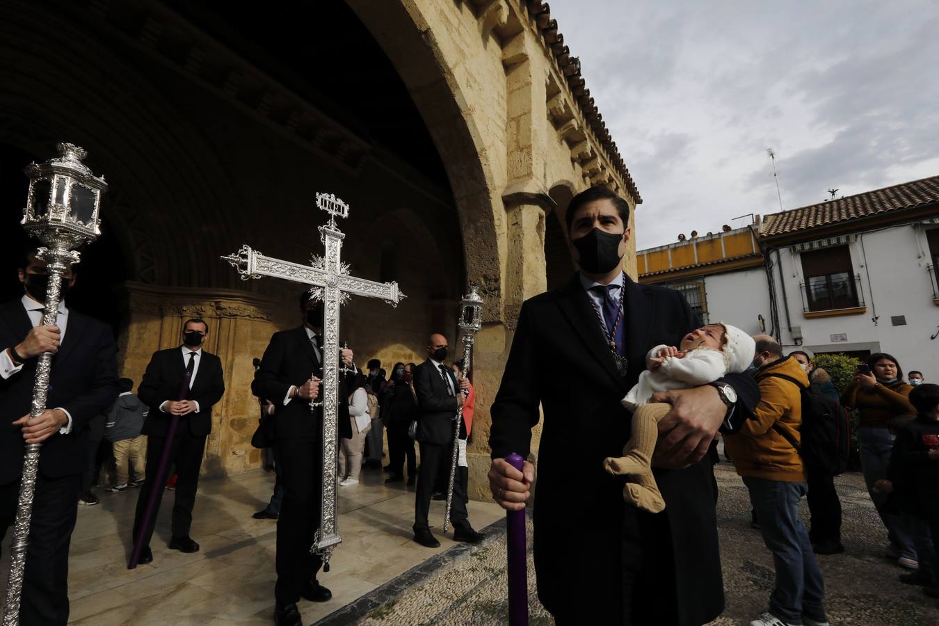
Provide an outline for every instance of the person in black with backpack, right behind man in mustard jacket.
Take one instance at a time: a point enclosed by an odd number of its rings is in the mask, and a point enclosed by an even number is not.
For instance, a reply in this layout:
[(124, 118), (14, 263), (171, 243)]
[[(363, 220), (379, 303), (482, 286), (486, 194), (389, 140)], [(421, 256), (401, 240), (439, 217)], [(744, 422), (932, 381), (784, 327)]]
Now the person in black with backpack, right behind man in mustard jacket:
[[(848, 412), (839, 402), (831, 377), (816, 368), (802, 350), (790, 353), (808, 374), (811, 410), (803, 410), (801, 430), (802, 461), (808, 474), (808, 512), (811, 515), (808, 539), (817, 555), (844, 552), (841, 544), (841, 501), (835, 490), (835, 477), (847, 469), (851, 435)], [(809, 443), (810, 440), (810, 443)]]

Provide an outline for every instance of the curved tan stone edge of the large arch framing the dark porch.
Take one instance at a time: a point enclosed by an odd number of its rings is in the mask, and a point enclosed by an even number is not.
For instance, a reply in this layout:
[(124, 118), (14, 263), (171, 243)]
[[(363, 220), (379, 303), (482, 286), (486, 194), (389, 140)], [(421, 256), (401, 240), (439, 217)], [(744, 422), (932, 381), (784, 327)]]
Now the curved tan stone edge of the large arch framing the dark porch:
[(450, 57), (416, 3), (346, 2), (391, 59), (437, 145), (459, 213), (467, 279), (482, 285), (485, 316), (497, 321), (503, 298), (499, 157), (486, 144), (485, 120), (457, 76), (463, 61)]

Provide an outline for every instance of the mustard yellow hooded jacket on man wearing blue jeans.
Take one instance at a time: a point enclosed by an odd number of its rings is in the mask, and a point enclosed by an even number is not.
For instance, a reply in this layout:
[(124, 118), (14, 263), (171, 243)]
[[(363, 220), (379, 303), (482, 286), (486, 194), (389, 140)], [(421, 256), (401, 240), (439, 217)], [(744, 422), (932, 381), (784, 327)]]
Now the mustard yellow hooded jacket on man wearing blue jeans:
[(806, 480), (802, 459), (785, 437), (773, 428), (781, 428), (800, 441), (802, 397), (793, 383), (769, 374), (785, 374), (808, 385), (808, 376), (792, 357), (767, 363), (757, 370), (760, 404), (754, 419), (743, 423), (733, 435), (725, 435), (724, 446), (737, 473), (769, 481), (803, 482)]

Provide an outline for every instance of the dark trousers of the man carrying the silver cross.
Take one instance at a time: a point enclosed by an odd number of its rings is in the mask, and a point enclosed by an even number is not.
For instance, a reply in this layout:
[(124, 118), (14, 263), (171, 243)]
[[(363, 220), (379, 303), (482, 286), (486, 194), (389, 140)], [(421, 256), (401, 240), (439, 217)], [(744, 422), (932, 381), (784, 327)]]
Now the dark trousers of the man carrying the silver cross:
[(323, 565), (320, 557), (310, 554), (319, 527), (323, 447), (316, 440), (279, 439), (275, 448), (284, 501), (277, 518), (274, 599), (290, 604), (300, 601), (300, 591), (316, 580)]

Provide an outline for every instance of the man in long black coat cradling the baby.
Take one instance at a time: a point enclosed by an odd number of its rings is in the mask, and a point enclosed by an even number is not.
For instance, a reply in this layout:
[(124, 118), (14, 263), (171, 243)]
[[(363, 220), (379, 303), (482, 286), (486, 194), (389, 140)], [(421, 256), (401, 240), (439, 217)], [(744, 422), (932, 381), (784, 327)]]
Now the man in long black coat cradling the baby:
[[(623, 502), (623, 478), (603, 469), (630, 435), (620, 404), (656, 344), (677, 345), (699, 320), (678, 292), (632, 282), (623, 272), (629, 206), (603, 187), (568, 207), (570, 250), (580, 272), (565, 287), (527, 300), (492, 405), (490, 488), (505, 509), (524, 509), (534, 469), (527, 457), (539, 405), (534, 515), (538, 596), (559, 624), (581, 612), (602, 624), (698, 625), (723, 610), (712, 442), (729, 420), (748, 419), (759, 400), (753, 379), (656, 394), (673, 406), (659, 425), (655, 481), (666, 509)], [(544, 363), (562, 373), (544, 375)]]

